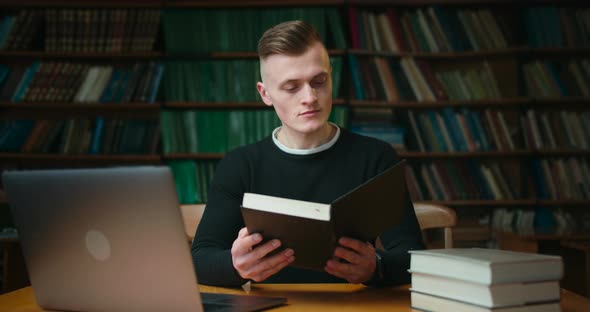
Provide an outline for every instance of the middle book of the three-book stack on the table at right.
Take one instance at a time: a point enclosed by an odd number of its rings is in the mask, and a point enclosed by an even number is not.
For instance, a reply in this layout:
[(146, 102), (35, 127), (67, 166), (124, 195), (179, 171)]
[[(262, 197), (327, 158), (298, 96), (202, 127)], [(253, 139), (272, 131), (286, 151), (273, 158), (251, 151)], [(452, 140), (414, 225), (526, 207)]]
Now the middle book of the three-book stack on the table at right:
[(559, 281), (486, 285), (412, 272), (412, 291), (486, 308), (559, 301)]

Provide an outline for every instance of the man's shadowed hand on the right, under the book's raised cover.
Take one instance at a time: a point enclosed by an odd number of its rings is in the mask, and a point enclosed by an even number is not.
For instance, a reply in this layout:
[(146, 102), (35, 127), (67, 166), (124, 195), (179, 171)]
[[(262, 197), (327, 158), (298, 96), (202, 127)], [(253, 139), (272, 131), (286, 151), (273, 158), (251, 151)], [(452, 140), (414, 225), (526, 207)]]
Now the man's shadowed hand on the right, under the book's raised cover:
[[(350, 283), (364, 283), (373, 277), (376, 269), (375, 247), (356, 239), (342, 237), (324, 270)], [(342, 261), (343, 260), (343, 261)]]

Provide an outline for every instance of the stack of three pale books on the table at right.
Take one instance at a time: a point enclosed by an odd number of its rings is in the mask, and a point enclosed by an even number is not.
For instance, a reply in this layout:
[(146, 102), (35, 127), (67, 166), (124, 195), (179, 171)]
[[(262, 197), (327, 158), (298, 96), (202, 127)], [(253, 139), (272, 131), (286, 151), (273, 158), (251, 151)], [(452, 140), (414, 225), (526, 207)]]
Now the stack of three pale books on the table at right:
[(482, 248), (412, 250), (412, 308), (561, 311), (559, 256)]

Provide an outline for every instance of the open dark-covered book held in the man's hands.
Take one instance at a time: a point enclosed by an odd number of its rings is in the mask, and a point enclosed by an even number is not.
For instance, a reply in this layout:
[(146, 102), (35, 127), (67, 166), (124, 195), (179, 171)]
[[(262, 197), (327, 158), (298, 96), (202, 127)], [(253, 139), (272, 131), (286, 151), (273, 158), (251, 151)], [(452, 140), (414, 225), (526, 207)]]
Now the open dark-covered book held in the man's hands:
[(405, 206), (405, 161), (330, 204), (245, 193), (242, 216), (249, 233), (277, 238), (295, 251), (293, 266), (323, 270), (338, 238), (374, 242), (398, 224)]

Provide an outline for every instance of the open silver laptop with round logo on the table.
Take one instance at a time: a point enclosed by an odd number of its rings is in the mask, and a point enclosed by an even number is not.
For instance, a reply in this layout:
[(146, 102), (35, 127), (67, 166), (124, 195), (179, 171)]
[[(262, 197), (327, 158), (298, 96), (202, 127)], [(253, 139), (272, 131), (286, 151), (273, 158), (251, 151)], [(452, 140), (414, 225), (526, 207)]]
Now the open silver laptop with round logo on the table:
[[(3, 182), (41, 307), (203, 310), (167, 167), (9, 171)], [(226, 311), (285, 302), (207, 297)]]

